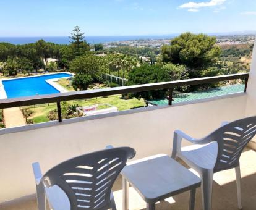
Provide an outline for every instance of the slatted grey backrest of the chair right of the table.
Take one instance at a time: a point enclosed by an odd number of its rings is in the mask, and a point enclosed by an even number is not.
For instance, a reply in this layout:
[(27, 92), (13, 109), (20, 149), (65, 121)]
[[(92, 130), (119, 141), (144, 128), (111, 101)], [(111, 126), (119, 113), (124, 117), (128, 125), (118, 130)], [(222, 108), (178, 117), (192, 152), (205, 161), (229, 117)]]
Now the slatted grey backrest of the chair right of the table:
[(239, 165), (239, 158), (247, 143), (256, 134), (256, 116), (226, 124), (206, 137), (218, 143), (215, 172)]

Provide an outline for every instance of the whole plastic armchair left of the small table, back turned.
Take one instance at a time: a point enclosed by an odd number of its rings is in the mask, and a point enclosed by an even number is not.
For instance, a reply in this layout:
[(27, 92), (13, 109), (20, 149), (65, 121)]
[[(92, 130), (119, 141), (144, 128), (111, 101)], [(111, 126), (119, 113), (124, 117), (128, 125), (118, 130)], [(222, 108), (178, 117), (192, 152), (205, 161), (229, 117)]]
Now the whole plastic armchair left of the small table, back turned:
[(38, 210), (114, 209), (111, 188), (117, 175), (135, 156), (129, 147), (109, 148), (74, 157), (41, 174), (38, 162), (33, 163)]

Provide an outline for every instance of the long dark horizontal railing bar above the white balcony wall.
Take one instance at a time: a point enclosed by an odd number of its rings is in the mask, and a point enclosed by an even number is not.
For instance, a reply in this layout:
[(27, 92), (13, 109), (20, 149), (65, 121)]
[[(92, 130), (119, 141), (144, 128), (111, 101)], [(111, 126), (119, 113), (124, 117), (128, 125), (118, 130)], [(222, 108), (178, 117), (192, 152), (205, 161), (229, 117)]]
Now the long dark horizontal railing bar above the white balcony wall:
[(71, 101), (75, 99), (87, 99), (114, 94), (136, 93), (150, 90), (171, 89), (177, 86), (202, 85), (205, 83), (221, 82), (226, 80), (247, 79), (249, 73), (237, 73), (232, 75), (221, 75), (216, 77), (203, 77), (188, 80), (177, 80), (171, 82), (149, 83), (145, 85), (122, 86), (117, 88), (105, 88), (86, 91), (73, 91), (68, 93), (48, 94), (41, 96), (29, 96), (22, 98), (0, 99), (0, 109), (29, 106), (35, 104), (56, 103)]

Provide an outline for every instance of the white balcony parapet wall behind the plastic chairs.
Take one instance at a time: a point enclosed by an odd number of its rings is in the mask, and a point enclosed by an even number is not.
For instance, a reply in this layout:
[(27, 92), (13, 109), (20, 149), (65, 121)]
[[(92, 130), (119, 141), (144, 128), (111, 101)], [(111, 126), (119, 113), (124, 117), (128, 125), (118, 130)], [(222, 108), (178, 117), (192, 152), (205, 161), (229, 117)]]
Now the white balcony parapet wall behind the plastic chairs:
[(174, 130), (181, 129), (195, 138), (203, 137), (224, 120), (244, 117), (246, 102), (247, 94), (242, 93), (182, 106), (148, 107), (147, 111), (126, 111), (82, 122), (51, 122), (54, 124), (51, 127), (45, 124), (43, 128), (34, 129), (35, 125), (29, 125), (23, 131), (2, 134), (0, 203), (35, 193), (32, 162), (40, 162), (46, 172), (70, 157), (103, 149), (109, 144), (135, 148), (136, 158), (171, 154)]

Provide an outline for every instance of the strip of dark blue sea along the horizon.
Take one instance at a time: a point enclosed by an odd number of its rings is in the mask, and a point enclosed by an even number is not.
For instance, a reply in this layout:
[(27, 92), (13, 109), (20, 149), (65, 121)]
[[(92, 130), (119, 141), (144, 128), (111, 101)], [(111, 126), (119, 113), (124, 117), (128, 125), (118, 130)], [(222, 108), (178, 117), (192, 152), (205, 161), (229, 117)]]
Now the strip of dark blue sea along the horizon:
[[(85, 40), (90, 44), (111, 43), (116, 41), (129, 40), (160, 40), (170, 39), (177, 35), (148, 35), (148, 36), (86, 36)], [(29, 44), (38, 40), (45, 40), (55, 44), (70, 44), (68, 36), (42, 36), (42, 37), (0, 37), (0, 42), (11, 44)]]

